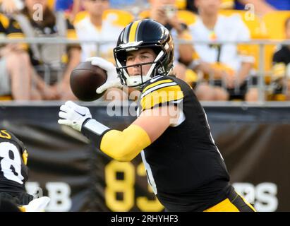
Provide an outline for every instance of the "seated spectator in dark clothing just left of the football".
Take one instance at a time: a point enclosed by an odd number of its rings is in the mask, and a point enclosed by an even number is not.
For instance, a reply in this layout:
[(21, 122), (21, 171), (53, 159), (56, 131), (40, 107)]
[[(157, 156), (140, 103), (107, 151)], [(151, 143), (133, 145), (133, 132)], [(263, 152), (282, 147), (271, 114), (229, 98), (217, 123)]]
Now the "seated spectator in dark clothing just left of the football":
[[(43, 18), (35, 11), (35, 4), (41, 4)], [(37, 10), (37, 9), (36, 9)], [(14, 18), (11, 35), (17, 37), (68, 37), (76, 38), (73, 25), (64, 17), (64, 13), (54, 13), (47, 6), (47, 0), (25, 0), (25, 8)], [(18, 23), (17, 23), (18, 22)], [(30, 61), (39, 76), (37, 87), (43, 89), (43, 79), (47, 84), (47, 100), (75, 100), (71, 92), (69, 78), (71, 71), (80, 62), (78, 44), (30, 44)]]

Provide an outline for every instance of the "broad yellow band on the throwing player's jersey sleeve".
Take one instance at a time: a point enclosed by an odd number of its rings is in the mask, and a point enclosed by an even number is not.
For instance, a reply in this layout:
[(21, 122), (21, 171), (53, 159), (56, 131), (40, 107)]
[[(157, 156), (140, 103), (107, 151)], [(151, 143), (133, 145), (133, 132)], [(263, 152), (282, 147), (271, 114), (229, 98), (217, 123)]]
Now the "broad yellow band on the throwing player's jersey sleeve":
[(183, 98), (183, 92), (179, 85), (167, 86), (155, 90), (152, 93), (145, 95), (140, 100), (140, 105), (142, 109), (151, 109), (155, 105), (160, 105), (165, 102), (171, 102), (176, 100), (181, 100)]

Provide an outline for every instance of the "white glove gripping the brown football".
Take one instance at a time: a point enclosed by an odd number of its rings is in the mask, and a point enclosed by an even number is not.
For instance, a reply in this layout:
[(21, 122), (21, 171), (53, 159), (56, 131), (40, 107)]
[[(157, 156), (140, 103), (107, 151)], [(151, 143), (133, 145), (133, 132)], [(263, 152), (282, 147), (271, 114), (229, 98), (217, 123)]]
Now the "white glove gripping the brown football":
[(116, 67), (114, 64), (111, 64), (110, 61), (102, 59), (101, 57), (90, 57), (86, 59), (86, 61), (90, 61), (92, 65), (99, 66), (104, 71), (107, 71), (107, 81), (104, 85), (101, 85), (97, 88), (97, 93), (103, 93), (105, 90), (109, 88), (122, 88), (120, 78), (118, 77), (118, 73), (116, 71)]

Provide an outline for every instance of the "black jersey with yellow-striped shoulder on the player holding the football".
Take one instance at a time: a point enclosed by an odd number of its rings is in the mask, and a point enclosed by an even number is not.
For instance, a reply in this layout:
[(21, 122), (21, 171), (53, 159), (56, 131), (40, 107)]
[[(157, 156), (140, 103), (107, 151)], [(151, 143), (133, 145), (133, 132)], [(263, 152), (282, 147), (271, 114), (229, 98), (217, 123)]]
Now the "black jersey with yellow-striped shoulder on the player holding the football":
[(157, 76), (145, 83), (138, 112), (163, 105), (182, 109), (183, 120), (141, 153), (148, 182), (169, 211), (205, 210), (222, 201), (230, 187), (205, 111), (193, 89), (174, 76)]

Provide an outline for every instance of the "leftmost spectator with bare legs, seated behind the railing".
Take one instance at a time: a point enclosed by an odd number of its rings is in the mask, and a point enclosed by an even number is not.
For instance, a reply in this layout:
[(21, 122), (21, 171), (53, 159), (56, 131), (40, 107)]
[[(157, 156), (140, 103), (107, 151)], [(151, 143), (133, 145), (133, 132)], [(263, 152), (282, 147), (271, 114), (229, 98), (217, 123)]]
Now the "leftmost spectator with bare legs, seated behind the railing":
[[(10, 37), (10, 20), (0, 14), (0, 35)], [(32, 88), (30, 59), (21, 44), (0, 47), (0, 96), (1, 100), (40, 100), (41, 95)]]

